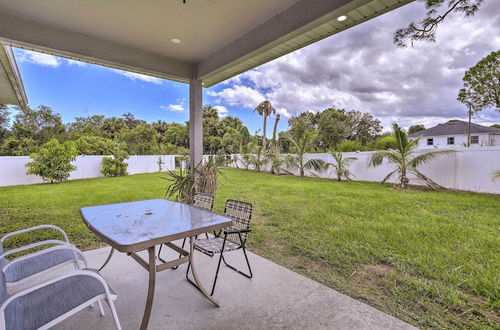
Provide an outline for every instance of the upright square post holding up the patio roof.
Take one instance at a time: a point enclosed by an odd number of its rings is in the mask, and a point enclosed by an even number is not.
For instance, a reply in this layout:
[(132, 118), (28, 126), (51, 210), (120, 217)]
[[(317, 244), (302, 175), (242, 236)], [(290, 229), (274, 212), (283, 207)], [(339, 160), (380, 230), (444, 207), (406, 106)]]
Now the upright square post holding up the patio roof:
[(203, 86), (200, 80), (189, 81), (189, 156), (191, 171), (203, 159)]

